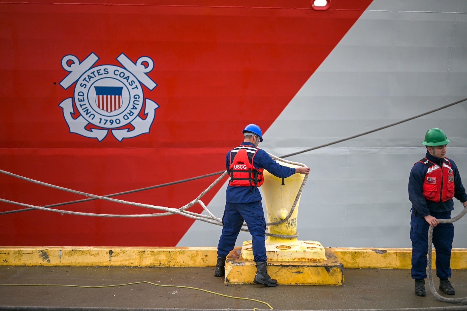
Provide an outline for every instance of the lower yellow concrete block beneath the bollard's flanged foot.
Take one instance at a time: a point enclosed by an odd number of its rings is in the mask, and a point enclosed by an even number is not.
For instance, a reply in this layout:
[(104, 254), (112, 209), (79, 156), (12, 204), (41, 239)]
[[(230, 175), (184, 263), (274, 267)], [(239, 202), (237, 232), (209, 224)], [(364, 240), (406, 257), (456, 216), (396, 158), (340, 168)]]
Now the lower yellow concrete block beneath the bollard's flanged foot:
[[(252, 284), (256, 264), (240, 258), (240, 248), (227, 256), (225, 283)], [(344, 266), (331, 249), (325, 249), (327, 260), (270, 261), (268, 274), (279, 284), (286, 285), (343, 285)]]

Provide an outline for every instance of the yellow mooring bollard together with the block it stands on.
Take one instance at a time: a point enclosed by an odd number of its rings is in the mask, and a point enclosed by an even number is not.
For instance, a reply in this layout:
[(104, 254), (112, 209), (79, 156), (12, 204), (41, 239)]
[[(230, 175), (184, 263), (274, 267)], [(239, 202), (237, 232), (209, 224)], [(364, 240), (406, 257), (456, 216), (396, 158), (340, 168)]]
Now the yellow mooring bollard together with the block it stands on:
[[(297, 167), (277, 161), (283, 166)], [(267, 222), (287, 219), (305, 175), (294, 174), (277, 178), (264, 171), (262, 192), (266, 205)], [(299, 241), (297, 234), (298, 203), (290, 218), (283, 223), (268, 226), (271, 234), (289, 235), (289, 238), (268, 236), (266, 256), (268, 274), (278, 284), (343, 285), (344, 266), (331, 249), (324, 249), (316, 241)], [(252, 284), (256, 267), (251, 241), (243, 242), (227, 256), (225, 283)]]

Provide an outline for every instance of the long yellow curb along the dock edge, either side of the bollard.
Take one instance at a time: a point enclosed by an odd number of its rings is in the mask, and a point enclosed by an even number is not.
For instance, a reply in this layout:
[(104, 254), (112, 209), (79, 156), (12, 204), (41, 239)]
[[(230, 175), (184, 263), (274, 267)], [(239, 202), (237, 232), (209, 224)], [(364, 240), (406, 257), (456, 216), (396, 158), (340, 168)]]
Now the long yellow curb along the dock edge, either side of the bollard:
[[(410, 269), (412, 249), (330, 248), (344, 268)], [(215, 266), (215, 247), (0, 246), (0, 266)], [(435, 253), (433, 252), (433, 269)], [(451, 269), (467, 269), (467, 249), (453, 249)]]

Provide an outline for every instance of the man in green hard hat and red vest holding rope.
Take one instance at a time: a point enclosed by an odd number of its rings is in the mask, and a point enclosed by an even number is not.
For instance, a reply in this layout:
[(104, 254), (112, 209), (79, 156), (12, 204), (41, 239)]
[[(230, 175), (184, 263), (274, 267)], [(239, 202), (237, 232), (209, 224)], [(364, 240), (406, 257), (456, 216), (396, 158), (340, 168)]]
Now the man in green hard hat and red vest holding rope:
[[(412, 167), (409, 177), (409, 199), (412, 202), (410, 240), (412, 240), (412, 278), (415, 295), (425, 296), (425, 278), (428, 254), (428, 227), (433, 228), (433, 245), (436, 249), (436, 276), (439, 290), (454, 295), (449, 282), (451, 277), (451, 249), (454, 238), (452, 223), (439, 223), (438, 219), (451, 218), (453, 198), (467, 206), (467, 194), (457, 166), (446, 158), (446, 134), (439, 128), (426, 132), (425, 158)], [(432, 269), (429, 267), (428, 269)]]

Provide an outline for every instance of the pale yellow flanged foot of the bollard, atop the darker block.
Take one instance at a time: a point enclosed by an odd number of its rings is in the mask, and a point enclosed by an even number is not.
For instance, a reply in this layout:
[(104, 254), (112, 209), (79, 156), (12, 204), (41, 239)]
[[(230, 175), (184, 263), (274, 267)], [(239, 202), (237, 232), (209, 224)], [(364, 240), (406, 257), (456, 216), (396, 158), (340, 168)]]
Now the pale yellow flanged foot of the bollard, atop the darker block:
[[(326, 260), (325, 249), (317, 241), (298, 241), (282, 239), (282, 241), (266, 240), (266, 256), (268, 260), (320, 261)], [(253, 260), (251, 241), (243, 242), (240, 258)]]

